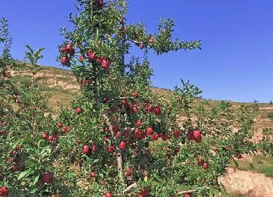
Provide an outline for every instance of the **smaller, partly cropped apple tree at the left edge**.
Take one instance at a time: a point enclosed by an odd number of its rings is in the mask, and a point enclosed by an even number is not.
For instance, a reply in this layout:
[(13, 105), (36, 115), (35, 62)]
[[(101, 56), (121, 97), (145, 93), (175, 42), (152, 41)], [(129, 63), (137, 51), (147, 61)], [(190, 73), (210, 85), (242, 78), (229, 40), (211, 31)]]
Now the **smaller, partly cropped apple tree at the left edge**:
[[(27, 45), (29, 63), (14, 60), (6, 22), (0, 28), (0, 197), (70, 194), (53, 174), (60, 133), (49, 114), (41, 77), (35, 77), (43, 48), (33, 51)], [(27, 74), (13, 78), (13, 66)]]

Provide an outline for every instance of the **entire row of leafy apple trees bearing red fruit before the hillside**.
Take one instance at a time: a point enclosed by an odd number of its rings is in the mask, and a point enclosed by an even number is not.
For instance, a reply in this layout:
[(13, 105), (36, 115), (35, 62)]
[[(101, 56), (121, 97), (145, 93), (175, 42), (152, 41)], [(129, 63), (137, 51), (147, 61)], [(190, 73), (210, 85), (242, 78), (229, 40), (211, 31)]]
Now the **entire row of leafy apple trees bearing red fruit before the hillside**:
[[(72, 110), (49, 112), (35, 78), (43, 48), (27, 45), (27, 63), (0, 59), (0, 196), (215, 196), (229, 162), (258, 148), (250, 141), (255, 109), (194, 108), (201, 91), (183, 80), (169, 101), (152, 92), (150, 52), (201, 49), (172, 38), (172, 19), (149, 33), (127, 22), (127, 0), (78, 0), (76, 10), (74, 28), (60, 29), (57, 58), (81, 85)], [(0, 41), (10, 47), (8, 35)], [(133, 47), (143, 56), (130, 57)], [(30, 70), (24, 83), (12, 83), (12, 65)]]

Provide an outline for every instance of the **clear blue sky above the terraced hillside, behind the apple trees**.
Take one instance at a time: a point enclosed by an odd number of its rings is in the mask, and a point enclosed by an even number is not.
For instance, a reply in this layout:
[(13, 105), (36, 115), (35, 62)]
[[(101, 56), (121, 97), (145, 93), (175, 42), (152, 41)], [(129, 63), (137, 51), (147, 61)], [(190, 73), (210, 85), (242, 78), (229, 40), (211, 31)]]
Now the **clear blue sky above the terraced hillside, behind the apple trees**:
[[(4, 0), (0, 17), (9, 19), (12, 55), (24, 45), (45, 47), (42, 65), (55, 62), (60, 26), (76, 0)], [(268, 103), (273, 100), (272, 0), (131, 0), (128, 22), (144, 21), (156, 32), (160, 17), (176, 21), (175, 37), (202, 40), (202, 50), (150, 55), (154, 86), (173, 88), (180, 78), (203, 90), (203, 98)], [(141, 55), (134, 48), (132, 53)]]

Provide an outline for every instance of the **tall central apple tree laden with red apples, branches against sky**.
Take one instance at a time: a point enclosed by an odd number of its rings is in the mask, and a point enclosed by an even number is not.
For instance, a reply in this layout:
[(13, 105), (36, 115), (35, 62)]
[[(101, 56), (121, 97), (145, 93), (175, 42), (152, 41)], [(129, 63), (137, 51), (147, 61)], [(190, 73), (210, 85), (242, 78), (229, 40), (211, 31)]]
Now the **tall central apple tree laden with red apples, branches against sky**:
[[(81, 91), (73, 111), (63, 108), (58, 117), (59, 131), (71, 130), (59, 144), (56, 174), (73, 196), (214, 195), (230, 159), (256, 149), (249, 141), (254, 109), (193, 107), (201, 91), (182, 80), (172, 98), (153, 93), (149, 51), (201, 47), (173, 39), (172, 19), (149, 33), (144, 22), (127, 22), (127, 0), (78, 0), (76, 9), (68, 17), (74, 28), (60, 29), (57, 59)], [(135, 46), (143, 57), (131, 56)]]

